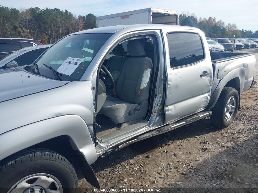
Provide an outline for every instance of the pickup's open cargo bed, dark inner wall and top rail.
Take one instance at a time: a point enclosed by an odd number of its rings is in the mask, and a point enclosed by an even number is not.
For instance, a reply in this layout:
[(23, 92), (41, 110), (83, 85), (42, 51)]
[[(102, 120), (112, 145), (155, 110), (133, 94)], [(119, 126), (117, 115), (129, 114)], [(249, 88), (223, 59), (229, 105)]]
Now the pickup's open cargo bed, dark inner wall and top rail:
[(211, 52), (210, 55), (213, 63), (221, 63), (228, 60), (254, 55), (254, 53)]

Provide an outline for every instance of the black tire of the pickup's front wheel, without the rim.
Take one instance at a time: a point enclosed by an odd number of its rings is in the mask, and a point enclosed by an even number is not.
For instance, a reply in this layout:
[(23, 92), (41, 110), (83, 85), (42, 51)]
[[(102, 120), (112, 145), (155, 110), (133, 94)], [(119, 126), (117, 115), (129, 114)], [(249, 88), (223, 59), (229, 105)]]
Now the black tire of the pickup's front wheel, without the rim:
[(56, 152), (40, 148), (21, 152), (0, 163), (0, 193), (9, 191), (27, 176), (42, 173), (58, 179), (63, 193), (76, 192), (78, 178), (71, 163)]

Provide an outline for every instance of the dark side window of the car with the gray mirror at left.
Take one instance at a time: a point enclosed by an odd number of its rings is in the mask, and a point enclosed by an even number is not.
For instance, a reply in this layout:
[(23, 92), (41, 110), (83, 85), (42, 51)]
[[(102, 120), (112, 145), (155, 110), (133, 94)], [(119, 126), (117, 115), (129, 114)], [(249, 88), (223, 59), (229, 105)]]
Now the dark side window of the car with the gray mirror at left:
[(18, 66), (30, 65), (32, 64), (47, 48), (42, 48), (27, 52), (18, 56), (14, 61), (18, 63)]

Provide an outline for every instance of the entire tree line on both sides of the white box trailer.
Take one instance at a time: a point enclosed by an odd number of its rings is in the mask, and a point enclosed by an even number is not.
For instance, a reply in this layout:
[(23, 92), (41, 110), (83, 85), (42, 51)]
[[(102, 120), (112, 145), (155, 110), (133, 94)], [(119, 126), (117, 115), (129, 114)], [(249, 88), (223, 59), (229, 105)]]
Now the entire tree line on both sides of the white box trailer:
[[(258, 30), (238, 30), (236, 24), (225, 23), (214, 17), (197, 19), (194, 13), (179, 15), (179, 24), (198, 27), (206, 37), (216, 38), (257, 38)], [(0, 6), (0, 38), (32, 38), (41, 40), (43, 44), (53, 44), (60, 38), (85, 29), (96, 27), (96, 16), (73, 15), (68, 10), (15, 9)]]

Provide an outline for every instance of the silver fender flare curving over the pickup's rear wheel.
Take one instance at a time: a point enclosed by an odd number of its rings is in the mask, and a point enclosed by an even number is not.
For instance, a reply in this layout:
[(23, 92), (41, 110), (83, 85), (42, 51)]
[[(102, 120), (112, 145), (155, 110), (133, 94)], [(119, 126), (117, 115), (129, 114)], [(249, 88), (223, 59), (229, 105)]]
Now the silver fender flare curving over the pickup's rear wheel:
[(220, 96), (220, 93), (221, 93), (222, 89), (225, 87), (225, 85), (230, 80), (237, 78), (237, 77), (239, 80), (239, 83), (237, 83), (237, 84), (239, 85), (240, 94), (242, 93), (242, 91), (244, 89), (244, 83), (245, 83), (245, 68), (243, 68), (243, 67), (232, 70), (231, 72), (227, 73), (220, 80), (218, 86), (216, 87), (215, 91), (213, 92), (213, 95), (209, 101), (207, 108), (212, 109), (215, 106), (215, 104)]

